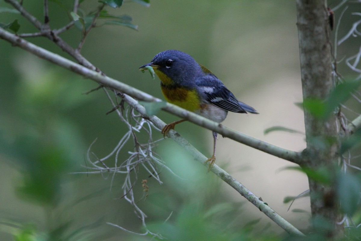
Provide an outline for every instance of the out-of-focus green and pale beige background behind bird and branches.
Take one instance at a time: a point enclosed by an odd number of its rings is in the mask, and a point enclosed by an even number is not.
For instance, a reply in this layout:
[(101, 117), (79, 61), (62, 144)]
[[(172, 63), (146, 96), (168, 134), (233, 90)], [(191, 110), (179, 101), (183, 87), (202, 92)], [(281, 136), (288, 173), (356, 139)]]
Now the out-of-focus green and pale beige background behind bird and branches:
[[(329, 4), (334, 7), (337, 3)], [(72, 4), (69, 0), (49, 1), (52, 28), (69, 22)], [(88, 13), (97, 5), (97, 1), (87, 0), (81, 9)], [(43, 19), (42, 1), (25, 0), (23, 6)], [(350, 6), (339, 36), (344, 36), (351, 23), (358, 20), (350, 13), (360, 7)], [(0, 7), (10, 5), (0, 1)], [(303, 111), (294, 104), (302, 101), (294, 1), (153, 0), (149, 8), (125, 2), (121, 8), (106, 10), (128, 14), (138, 25), (138, 31), (101, 26), (90, 32), (82, 54), (109, 77), (162, 98), (159, 80), (152, 80), (138, 68), (158, 52), (181, 50), (212, 70), (239, 100), (260, 112), (229, 113), (223, 124), (287, 149), (305, 148), (302, 134), (263, 134), (275, 125), (304, 131)], [(336, 19), (340, 11), (335, 12)], [(19, 33), (36, 31), (19, 14), (0, 13), (3, 23), (15, 18), (21, 25)], [(72, 27), (61, 37), (76, 47), (81, 33)], [(48, 39), (27, 40), (68, 57)], [(345, 42), (338, 49), (338, 59), (355, 54), (358, 44), (356, 38)], [(343, 76), (353, 74), (344, 62), (338, 65), (338, 71)], [(105, 115), (112, 106), (104, 91), (83, 94), (97, 84), (4, 40), (0, 40), (0, 78), (0, 240), (11, 240), (11, 233), (18, 230), (36, 230), (44, 236), (52, 231), (51, 237), (62, 237), (59, 240), (150, 239), (106, 224), (144, 232), (132, 206), (119, 199), (122, 175), (116, 175), (112, 182), (112, 175), (71, 174), (88, 171), (85, 155), (95, 139), (92, 151), (103, 157), (127, 130), (115, 112)], [(361, 111), (352, 101), (349, 104), (354, 111)], [(347, 115), (351, 120), (356, 117), (352, 112)], [(178, 119), (164, 112), (158, 116), (165, 122)], [(211, 155), (209, 130), (185, 122), (177, 126), (177, 131), (206, 156)], [(161, 134), (155, 132), (153, 138), (161, 138)], [(123, 159), (132, 147), (131, 142), (125, 146)], [(164, 183), (160, 185), (140, 170), (139, 180), (149, 179), (149, 196), (144, 201), (140, 181), (134, 191), (138, 205), (148, 215), (149, 229), (166, 237), (178, 237), (172, 240), (285, 235), (236, 191), (212, 173), (206, 174), (206, 168), (171, 139), (161, 141), (156, 151), (179, 177), (164, 169), (160, 174)], [(114, 159), (107, 163), (112, 162)], [(297, 228), (309, 227), (308, 198), (297, 199), (288, 212), (289, 204), (283, 203), (284, 197), (308, 189), (304, 174), (282, 171), (291, 163), (219, 137), (217, 164)]]

